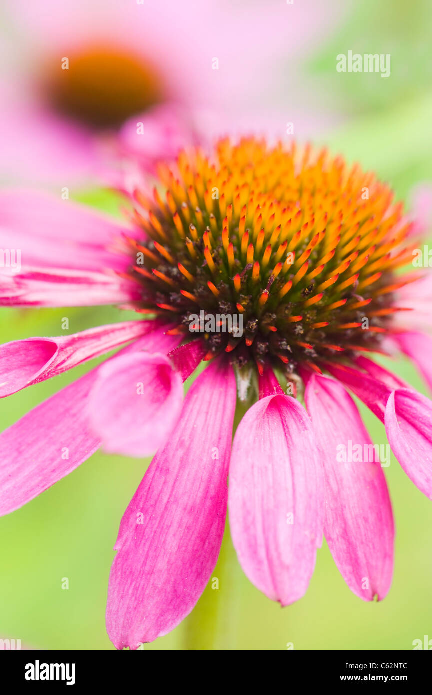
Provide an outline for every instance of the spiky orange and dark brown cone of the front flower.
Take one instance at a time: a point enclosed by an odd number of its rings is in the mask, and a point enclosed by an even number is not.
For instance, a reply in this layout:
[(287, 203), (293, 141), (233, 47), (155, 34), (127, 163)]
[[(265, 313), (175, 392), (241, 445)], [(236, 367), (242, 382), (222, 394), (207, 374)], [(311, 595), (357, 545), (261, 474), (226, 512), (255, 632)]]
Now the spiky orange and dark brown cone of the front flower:
[(181, 152), (153, 200), (135, 201), (140, 310), (177, 315), (187, 338), (197, 307), (242, 316), (242, 335), (203, 336), (206, 359), (295, 370), (379, 349), (410, 227), (373, 174), (310, 146), (221, 140), (210, 157)]

